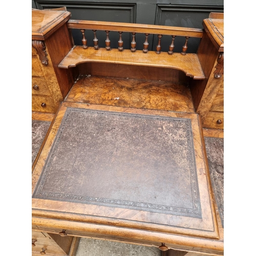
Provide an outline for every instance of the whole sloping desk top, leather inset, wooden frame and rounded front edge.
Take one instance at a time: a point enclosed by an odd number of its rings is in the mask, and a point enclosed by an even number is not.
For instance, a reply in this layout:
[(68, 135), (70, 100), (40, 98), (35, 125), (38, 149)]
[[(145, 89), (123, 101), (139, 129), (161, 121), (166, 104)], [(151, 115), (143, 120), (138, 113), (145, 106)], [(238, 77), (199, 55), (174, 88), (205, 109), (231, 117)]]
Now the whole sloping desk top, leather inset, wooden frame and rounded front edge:
[(32, 174), (33, 229), (223, 254), (199, 123), (62, 102)]

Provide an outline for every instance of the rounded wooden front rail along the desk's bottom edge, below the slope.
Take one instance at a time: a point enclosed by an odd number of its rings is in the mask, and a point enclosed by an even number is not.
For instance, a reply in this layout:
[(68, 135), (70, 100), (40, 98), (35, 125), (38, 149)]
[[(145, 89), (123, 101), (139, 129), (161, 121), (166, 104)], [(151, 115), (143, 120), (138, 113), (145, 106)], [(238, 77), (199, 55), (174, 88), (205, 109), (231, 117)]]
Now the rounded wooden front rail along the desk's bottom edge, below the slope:
[(36, 230), (58, 233), (63, 229), (68, 236), (98, 237), (105, 239), (118, 239), (127, 243), (136, 242), (141, 245), (151, 244), (160, 246), (165, 243), (168, 248), (181, 248), (197, 252), (207, 252), (213, 255), (223, 255), (223, 241), (188, 236), (178, 236), (156, 231), (139, 230), (135, 228), (116, 227), (111, 225), (99, 225), (86, 222), (67, 220), (52, 220), (47, 218), (33, 217), (32, 225)]

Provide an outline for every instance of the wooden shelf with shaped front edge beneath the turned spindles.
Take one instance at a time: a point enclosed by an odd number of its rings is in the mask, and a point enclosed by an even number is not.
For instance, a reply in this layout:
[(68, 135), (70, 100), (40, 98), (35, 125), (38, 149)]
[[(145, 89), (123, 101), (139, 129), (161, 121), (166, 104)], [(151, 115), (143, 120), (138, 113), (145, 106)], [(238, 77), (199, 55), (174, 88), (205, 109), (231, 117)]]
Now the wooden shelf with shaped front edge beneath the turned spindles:
[(136, 52), (131, 52), (130, 50), (120, 52), (118, 49), (107, 51), (104, 48), (95, 50), (93, 47), (83, 49), (82, 46), (75, 46), (59, 63), (58, 67), (69, 69), (84, 62), (105, 62), (170, 68), (181, 70), (186, 76), (192, 77), (193, 79), (205, 78), (198, 56), (194, 53), (187, 53), (186, 55), (174, 53), (169, 55), (167, 52), (160, 54), (153, 51), (143, 53), (143, 51), (139, 50)]

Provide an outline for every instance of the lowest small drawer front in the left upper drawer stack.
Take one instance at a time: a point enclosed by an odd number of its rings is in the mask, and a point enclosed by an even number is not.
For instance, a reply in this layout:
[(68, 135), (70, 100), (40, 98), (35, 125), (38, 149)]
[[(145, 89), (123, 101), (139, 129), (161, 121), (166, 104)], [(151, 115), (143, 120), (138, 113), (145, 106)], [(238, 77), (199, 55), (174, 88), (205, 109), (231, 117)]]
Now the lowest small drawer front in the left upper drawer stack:
[[(42, 106), (42, 104), (45, 106)], [(32, 95), (32, 111), (55, 113), (56, 110), (57, 106), (55, 106), (54, 101), (51, 97)]]

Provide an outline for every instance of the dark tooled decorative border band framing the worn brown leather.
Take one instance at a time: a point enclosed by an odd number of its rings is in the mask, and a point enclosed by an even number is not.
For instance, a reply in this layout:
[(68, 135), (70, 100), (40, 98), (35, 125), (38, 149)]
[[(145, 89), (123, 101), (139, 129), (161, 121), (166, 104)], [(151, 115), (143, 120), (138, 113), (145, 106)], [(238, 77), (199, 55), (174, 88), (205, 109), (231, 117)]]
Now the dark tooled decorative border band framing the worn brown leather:
[[(118, 115), (118, 116), (133, 116), (134, 118), (154, 118), (158, 120), (172, 120), (179, 122), (185, 125), (188, 152), (189, 152), (189, 168), (190, 168), (190, 182), (191, 182), (191, 195), (193, 201), (193, 208), (182, 208), (182, 207), (173, 207), (159, 204), (152, 204), (146, 202), (132, 202), (127, 200), (115, 200), (109, 198), (98, 198), (91, 196), (81, 196), (65, 193), (53, 193), (50, 191), (42, 192), (44, 184), (47, 179), (47, 175), (51, 168), (51, 164), (57, 152), (58, 144), (61, 140), (63, 131), (65, 131), (66, 124), (69, 121), (70, 115), (73, 112), (97, 112), (97, 114), (102, 115)], [(67, 108), (65, 115), (61, 121), (58, 132), (56, 134), (55, 140), (51, 147), (50, 153), (47, 157), (46, 164), (42, 169), (41, 175), (35, 187), (32, 198), (54, 200), (54, 201), (65, 201), (73, 203), (82, 203), (82, 204), (93, 204), (93, 205), (102, 205), (109, 207), (119, 207), (119, 208), (128, 208), (135, 210), (144, 210), (151, 212), (159, 212), (163, 214), (172, 214), (186, 217), (202, 218), (200, 196), (199, 196), (199, 187), (198, 187), (198, 178), (197, 178), (197, 169), (196, 169), (196, 160), (194, 152), (194, 142), (193, 142), (193, 132), (191, 129), (191, 120), (188, 118), (173, 118), (173, 117), (164, 117), (164, 116), (154, 116), (154, 115), (142, 115), (142, 114), (131, 114), (131, 113), (118, 113), (111, 111), (99, 111), (99, 110), (87, 110), (87, 109), (77, 109), (77, 108)]]

